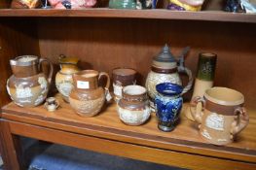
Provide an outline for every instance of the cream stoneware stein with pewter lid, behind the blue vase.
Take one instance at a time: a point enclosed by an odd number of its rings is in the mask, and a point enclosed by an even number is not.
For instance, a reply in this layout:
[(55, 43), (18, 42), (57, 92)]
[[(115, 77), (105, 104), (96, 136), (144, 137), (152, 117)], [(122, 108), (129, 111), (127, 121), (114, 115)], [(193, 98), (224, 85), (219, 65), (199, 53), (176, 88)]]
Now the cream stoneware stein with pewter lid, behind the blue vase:
[[(189, 82), (188, 85), (183, 88), (181, 93), (184, 94), (187, 92), (192, 84), (193, 77), (192, 72), (188, 68), (184, 66), (184, 55), (189, 51), (189, 48), (185, 48), (178, 60), (172, 55), (169, 50), (169, 47), (165, 45), (163, 50), (154, 57), (153, 63), (151, 66), (151, 71), (148, 74), (146, 80), (146, 88), (148, 90), (149, 98), (150, 98), (150, 106), (152, 110), (155, 109), (154, 101), (157, 95), (156, 85), (161, 83), (172, 83), (177, 85), (182, 85), (181, 79), (179, 77), (180, 72), (183, 72), (188, 75)], [(178, 65), (179, 63), (179, 65)]]

